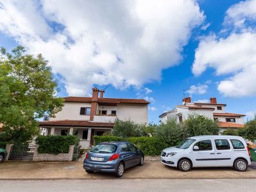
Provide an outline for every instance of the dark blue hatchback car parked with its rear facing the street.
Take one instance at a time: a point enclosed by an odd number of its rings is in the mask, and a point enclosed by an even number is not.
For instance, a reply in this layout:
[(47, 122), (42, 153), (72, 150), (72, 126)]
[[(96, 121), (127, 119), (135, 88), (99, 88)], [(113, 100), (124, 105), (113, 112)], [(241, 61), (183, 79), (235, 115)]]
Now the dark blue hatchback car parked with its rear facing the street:
[(122, 177), (124, 170), (144, 164), (144, 154), (129, 142), (99, 143), (86, 154), (83, 167), (87, 173), (112, 172)]

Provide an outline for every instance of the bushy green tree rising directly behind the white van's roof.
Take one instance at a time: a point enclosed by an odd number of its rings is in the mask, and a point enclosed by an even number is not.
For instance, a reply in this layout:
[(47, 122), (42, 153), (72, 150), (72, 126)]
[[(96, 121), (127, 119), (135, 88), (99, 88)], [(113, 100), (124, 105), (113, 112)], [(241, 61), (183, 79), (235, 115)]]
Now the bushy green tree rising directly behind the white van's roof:
[(212, 135), (218, 134), (218, 122), (205, 117), (204, 115), (189, 115), (182, 125), (184, 135), (198, 136), (198, 135)]

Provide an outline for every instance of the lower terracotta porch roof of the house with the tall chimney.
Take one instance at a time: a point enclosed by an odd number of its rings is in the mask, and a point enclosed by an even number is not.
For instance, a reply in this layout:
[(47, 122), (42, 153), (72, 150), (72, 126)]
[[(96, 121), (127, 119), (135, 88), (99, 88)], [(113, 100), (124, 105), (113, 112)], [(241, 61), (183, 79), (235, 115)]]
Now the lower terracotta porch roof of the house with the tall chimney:
[(84, 120), (57, 120), (39, 122), (39, 125), (59, 125), (59, 126), (84, 126), (84, 127), (113, 127), (113, 123), (90, 122)]

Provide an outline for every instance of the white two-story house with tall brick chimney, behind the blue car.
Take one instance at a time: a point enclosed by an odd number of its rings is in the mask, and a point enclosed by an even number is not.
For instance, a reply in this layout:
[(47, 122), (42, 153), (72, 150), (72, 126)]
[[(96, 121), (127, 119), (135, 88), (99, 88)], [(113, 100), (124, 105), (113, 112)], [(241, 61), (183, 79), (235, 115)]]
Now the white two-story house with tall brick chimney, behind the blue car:
[(93, 144), (93, 136), (111, 131), (116, 118), (147, 124), (148, 104), (144, 99), (104, 98), (104, 90), (93, 88), (92, 97), (65, 97), (55, 118), (40, 122), (45, 135), (76, 134), (82, 148)]

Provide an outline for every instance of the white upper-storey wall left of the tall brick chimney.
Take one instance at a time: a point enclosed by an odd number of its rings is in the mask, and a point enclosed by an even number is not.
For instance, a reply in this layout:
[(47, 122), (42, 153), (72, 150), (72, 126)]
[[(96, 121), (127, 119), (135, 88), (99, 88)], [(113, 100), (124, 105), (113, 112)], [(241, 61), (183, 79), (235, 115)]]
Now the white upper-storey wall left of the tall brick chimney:
[(90, 108), (89, 102), (64, 102), (62, 110), (49, 120), (90, 120), (90, 115), (80, 115), (81, 108)]

